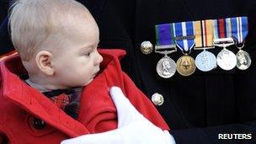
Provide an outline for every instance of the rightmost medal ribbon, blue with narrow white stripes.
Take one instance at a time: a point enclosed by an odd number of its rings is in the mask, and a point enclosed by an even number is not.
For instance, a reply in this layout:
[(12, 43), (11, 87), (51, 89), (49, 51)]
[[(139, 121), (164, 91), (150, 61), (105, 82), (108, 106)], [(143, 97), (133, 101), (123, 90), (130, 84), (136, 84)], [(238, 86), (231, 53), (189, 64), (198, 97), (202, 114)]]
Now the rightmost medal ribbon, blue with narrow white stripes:
[(243, 43), (246, 35), (248, 35), (248, 18), (235, 17), (231, 18), (232, 21), (232, 37), (238, 44)]

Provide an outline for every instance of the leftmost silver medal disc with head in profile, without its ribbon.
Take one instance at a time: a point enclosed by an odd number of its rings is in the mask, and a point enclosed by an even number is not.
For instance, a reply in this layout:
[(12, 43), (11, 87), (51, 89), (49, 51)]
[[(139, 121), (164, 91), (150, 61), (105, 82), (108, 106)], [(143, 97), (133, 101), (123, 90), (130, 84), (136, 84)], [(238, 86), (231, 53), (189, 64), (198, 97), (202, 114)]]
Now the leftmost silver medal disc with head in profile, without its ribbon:
[(157, 73), (160, 77), (173, 77), (176, 72), (176, 63), (169, 56), (164, 56), (157, 62)]

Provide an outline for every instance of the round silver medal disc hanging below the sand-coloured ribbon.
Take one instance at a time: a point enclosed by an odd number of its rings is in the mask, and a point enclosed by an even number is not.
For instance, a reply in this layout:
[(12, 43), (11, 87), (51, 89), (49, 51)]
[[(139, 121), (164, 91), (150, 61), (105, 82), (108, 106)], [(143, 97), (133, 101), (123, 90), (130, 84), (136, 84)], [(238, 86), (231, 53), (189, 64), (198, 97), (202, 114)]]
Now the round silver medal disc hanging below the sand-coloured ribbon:
[(195, 66), (202, 72), (209, 72), (216, 67), (216, 56), (204, 50), (195, 57)]

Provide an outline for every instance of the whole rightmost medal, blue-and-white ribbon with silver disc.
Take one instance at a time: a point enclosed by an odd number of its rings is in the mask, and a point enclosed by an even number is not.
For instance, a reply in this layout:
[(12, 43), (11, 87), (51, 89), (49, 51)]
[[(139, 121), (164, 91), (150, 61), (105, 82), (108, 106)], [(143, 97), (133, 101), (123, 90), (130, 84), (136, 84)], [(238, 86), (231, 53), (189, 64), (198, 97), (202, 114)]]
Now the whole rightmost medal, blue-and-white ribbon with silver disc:
[[(244, 40), (248, 35), (248, 19), (247, 17), (232, 18), (232, 37), (236, 41), (236, 46), (239, 49), (237, 52), (237, 68), (246, 70), (251, 66), (252, 60), (248, 52), (243, 51)], [(241, 45), (241, 46), (239, 46)]]

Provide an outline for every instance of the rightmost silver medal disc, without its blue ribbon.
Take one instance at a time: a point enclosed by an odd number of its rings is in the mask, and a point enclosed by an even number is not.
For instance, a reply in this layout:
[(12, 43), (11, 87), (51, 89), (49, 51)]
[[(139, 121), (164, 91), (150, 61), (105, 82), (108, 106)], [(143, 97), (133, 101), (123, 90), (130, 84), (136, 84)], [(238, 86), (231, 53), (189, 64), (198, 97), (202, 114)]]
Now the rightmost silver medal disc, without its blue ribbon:
[(237, 68), (240, 70), (246, 70), (251, 66), (252, 60), (246, 51), (238, 51), (237, 52)]

